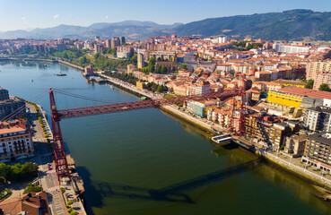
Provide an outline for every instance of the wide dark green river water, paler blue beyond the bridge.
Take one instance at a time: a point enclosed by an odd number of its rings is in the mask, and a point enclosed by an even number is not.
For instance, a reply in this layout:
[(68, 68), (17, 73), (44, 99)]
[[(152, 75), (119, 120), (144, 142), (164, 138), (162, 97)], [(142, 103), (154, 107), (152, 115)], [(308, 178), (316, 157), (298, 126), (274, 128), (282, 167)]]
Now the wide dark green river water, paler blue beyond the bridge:
[[(48, 112), (50, 87), (111, 102), (138, 100), (60, 64), (2, 62), (0, 71), (0, 87), (11, 95), (36, 101), (45, 92), (37, 103)], [(102, 104), (56, 99), (58, 109)], [(159, 109), (65, 119), (61, 126), (90, 214), (331, 214), (312, 185), (252, 162), (257, 158), (236, 145), (217, 147)]]

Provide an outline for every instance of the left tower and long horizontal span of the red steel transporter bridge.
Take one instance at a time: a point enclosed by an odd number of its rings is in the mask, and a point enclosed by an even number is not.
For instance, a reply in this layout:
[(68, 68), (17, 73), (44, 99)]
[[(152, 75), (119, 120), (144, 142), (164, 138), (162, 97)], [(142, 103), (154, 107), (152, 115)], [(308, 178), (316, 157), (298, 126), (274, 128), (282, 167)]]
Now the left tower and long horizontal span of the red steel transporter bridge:
[[(171, 105), (178, 102), (185, 102), (186, 100), (189, 99), (227, 99), (235, 96), (242, 96), (243, 92), (245, 91), (241, 89), (234, 89), (234, 90), (205, 93), (202, 95), (174, 97), (170, 99), (149, 99), (149, 100), (140, 100), (134, 102), (107, 104), (107, 105), (92, 106), (92, 107), (78, 107), (78, 108), (62, 109), (62, 110), (57, 110), (57, 105), (54, 98), (54, 92), (59, 92), (59, 93), (63, 93), (63, 92), (59, 90), (49, 89), (55, 164), (56, 164), (57, 176), (60, 178), (60, 177), (70, 177), (69, 168), (65, 155), (65, 146), (60, 128), (61, 119), (109, 114), (114, 112), (121, 112), (121, 111), (128, 111), (128, 110), (135, 110), (135, 109), (142, 109), (149, 107), (160, 107), (162, 105)], [(72, 94), (67, 93), (66, 95), (72, 95)], [(240, 120), (240, 122), (242, 122), (242, 120)]]

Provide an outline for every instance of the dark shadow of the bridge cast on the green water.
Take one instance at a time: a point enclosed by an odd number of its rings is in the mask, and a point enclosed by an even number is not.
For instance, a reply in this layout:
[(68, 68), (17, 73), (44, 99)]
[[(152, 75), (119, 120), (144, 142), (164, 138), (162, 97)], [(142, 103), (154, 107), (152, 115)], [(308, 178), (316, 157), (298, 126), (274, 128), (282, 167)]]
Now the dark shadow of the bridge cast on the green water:
[[(163, 187), (161, 189), (150, 189), (132, 185), (119, 185), (109, 182), (91, 181), (90, 174), (86, 168), (80, 167), (77, 168), (77, 171), (81, 176), (83, 176), (86, 193), (89, 193), (89, 196), (92, 196), (92, 200), (88, 200), (91, 202), (87, 202), (88, 206), (90, 205), (90, 207), (100, 208), (103, 206), (103, 198), (195, 203), (187, 194), (183, 192), (193, 190), (203, 185), (210, 185), (220, 182), (228, 177), (257, 168), (260, 164), (261, 160), (255, 159), (231, 168), (225, 168), (209, 173), (204, 176), (197, 176), (196, 178), (182, 181), (178, 184)], [(92, 214), (91, 208), (88, 211), (89, 214)]]

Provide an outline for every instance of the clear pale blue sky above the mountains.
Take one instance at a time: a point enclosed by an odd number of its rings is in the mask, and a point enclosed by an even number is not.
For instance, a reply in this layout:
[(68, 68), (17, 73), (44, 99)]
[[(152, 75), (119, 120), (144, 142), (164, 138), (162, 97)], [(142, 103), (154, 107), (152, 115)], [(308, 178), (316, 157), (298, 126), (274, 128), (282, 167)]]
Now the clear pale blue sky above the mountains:
[(0, 31), (89, 26), (126, 20), (160, 24), (310, 9), (331, 12), (330, 0), (0, 0)]

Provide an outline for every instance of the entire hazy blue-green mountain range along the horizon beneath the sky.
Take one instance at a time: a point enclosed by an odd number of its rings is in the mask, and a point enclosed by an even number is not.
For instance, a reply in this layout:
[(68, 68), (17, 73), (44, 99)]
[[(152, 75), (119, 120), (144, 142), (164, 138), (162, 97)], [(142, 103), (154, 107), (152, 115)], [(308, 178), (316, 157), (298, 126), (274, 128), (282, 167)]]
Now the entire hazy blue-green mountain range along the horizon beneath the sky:
[(12, 30), (0, 32), (0, 39), (109, 39), (126, 36), (127, 39), (148, 39), (153, 36), (179, 34), (210, 37), (224, 34), (244, 39), (320, 39), (331, 40), (331, 13), (310, 10), (292, 10), (283, 13), (260, 13), (211, 18), (187, 24), (160, 25), (155, 22), (125, 21), (94, 23), (88, 27), (59, 25), (48, 29)]

